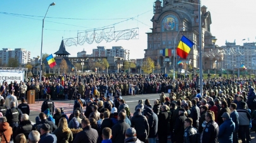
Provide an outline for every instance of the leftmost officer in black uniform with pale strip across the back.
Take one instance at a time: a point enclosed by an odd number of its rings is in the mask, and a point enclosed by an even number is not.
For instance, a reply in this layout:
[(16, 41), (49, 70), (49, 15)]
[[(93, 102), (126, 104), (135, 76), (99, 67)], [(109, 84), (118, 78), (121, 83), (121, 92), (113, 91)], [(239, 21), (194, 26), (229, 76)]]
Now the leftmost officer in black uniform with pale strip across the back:
[(15, 102), (11, 101), (10, 109), (6, 111), (7, 122), (10, 127), (13, 128), (13, 132), (15, 132), (16, 127), (18, 127), (18, 123), (20, 122), (20, 117), (22, 116), (22, 111), (19, 108), (15, 107)]

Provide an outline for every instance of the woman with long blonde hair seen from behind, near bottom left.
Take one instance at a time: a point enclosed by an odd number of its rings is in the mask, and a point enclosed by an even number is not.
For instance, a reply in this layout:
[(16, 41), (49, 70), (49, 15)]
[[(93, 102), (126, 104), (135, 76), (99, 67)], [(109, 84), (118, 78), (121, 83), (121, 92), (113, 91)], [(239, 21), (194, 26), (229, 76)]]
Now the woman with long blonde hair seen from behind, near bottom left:
[(53, 134), (57, 137), (57, 143), (68, 143), (73, 140), (72, 132), (68, 128), (67, 119), (64, 117), (60, 118), (58, 128), (54, 130)]

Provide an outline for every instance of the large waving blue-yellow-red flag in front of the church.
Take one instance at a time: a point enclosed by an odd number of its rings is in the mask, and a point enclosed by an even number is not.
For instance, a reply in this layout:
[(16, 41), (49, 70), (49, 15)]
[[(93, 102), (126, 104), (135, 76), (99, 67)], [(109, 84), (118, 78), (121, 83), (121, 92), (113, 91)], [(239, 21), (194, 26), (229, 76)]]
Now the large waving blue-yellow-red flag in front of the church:
[(183, 59), (187, 59), (189, 51), (194, 44), (195, 43), (191, 42), (187, 37), (182, 36), (177, 47), (177, 55)]

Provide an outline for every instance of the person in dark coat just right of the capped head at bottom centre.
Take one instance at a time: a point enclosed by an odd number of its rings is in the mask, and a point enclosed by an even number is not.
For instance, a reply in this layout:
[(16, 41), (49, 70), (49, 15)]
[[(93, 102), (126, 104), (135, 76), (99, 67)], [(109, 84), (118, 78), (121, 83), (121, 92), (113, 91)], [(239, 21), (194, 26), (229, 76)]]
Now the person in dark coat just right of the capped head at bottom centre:
[(131, 127), (136, 130), (136, 136), (139, 140), (145, 142), (149, 134), (148, 120), (141, 113), (141, 108), (138, 108), (131, 118)]

